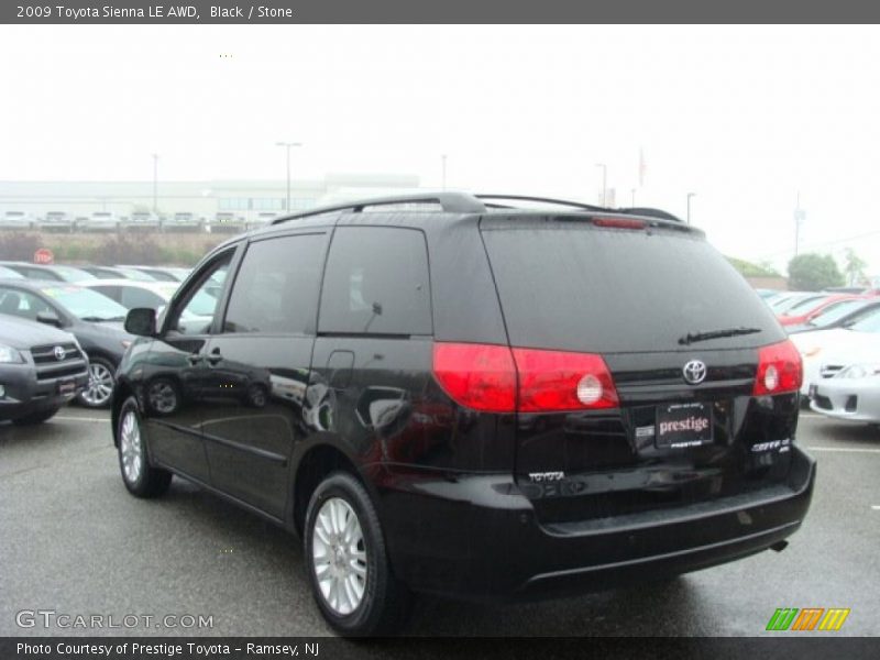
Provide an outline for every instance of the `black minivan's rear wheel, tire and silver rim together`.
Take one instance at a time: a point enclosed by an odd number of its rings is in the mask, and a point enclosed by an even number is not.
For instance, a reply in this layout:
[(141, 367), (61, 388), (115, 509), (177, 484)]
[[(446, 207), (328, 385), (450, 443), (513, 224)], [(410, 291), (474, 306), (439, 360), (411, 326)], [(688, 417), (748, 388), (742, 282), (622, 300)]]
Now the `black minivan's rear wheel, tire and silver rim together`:
[(394, 576), (376, 509), (351, 474), (334, 472), (315, 490), (304, 557), (315, 602), (337, 632), (381, 636), (403, 626), (410, 593)]

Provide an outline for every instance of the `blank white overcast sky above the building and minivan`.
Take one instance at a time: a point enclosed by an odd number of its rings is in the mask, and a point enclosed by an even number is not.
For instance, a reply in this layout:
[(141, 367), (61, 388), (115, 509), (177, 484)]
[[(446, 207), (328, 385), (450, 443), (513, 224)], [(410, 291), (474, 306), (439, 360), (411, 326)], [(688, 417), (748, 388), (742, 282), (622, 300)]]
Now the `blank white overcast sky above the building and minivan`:
[[(397, 173), (692, 218), (880, 275), (876, 26), (0, 26), (0, 179)], [(221, 55), (224, 55), (221, 57)], [(639, 151), (647, 166), (639, 185)]]

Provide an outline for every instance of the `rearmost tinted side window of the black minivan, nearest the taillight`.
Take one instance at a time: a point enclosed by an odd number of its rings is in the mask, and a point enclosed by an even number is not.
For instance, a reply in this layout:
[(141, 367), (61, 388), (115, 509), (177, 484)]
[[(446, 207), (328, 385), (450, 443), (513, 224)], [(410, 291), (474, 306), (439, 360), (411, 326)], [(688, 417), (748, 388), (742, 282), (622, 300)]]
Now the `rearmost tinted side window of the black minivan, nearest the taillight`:
[(431, 334), (425, 235), (414, 229), (337, 229), (327, 261), (320, 332)]

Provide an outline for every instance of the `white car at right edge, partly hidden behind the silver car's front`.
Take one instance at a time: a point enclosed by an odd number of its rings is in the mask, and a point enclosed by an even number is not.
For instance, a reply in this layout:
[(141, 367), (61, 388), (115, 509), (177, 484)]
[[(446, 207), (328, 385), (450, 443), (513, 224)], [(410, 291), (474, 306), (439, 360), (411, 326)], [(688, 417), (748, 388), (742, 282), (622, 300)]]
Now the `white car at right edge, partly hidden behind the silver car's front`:
[(831, 378), (847, 365), (880, 363), (880, 311), (848, 328), (792, 334), (790, 339), (804, 362), (801, 394), (809, 395), (811, 384)]

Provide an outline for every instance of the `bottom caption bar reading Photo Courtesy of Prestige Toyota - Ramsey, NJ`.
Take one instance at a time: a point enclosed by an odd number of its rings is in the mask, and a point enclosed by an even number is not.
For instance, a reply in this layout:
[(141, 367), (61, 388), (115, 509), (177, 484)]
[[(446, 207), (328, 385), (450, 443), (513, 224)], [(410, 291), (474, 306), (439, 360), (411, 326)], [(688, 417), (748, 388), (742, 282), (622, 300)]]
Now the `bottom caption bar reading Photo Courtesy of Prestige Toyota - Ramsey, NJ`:
[[(837, 634), (789, 634), (772, 637), (584, 637), (573, 638), (466, 638), (466, 639), (374, 639), (341, 638), (139, 638), (139, 637), (3, 637), (0, 658), (3, 660), (397, 660), (444, 658), (460, 660), (552, 660), (556, 658), (689, 658), (748, 659), (773, 658), (813, 660), (822, 658), (878, 658), (880, 638), (838, 637)], [(148, 646), (151, 652), (136, 652), (134, 645)], [(189, 645), (193, 645), (190, 647)], [(24, 652), (19, 645), (41, 646), (48, 652)], [(162, 652), (162, 645), (173, 647)], [(277, 647), (278, 652), (249, 651), (248, 645)], [(94, 647), (94, 651), (68, 653), (66, 647)], [(112, 647), (109, 653), (101, 649)], [(286, 647), (286, 648), (285, 648)], [(292, 648), (296, 647), (296, 653)], [(128, 650), (123, 650), (128, 649)], [(62, 652), (58, 652), (62, 650)]]

